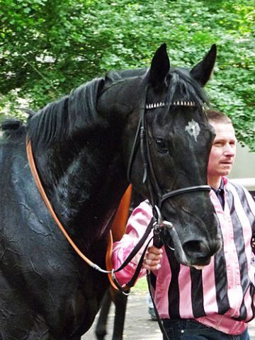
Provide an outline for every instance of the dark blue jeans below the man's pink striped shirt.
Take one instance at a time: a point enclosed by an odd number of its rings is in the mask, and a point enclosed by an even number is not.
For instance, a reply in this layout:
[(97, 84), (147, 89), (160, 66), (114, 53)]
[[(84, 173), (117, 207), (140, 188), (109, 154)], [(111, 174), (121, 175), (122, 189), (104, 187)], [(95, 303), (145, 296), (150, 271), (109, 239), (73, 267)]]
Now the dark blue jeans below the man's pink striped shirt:
[[(207, 327), (191, 319), (162, 320), (169, 340), (249, 340), (248, 331), (239, 335), (231, 335)], [(163, 336), (163, 339), (166, 338)]]

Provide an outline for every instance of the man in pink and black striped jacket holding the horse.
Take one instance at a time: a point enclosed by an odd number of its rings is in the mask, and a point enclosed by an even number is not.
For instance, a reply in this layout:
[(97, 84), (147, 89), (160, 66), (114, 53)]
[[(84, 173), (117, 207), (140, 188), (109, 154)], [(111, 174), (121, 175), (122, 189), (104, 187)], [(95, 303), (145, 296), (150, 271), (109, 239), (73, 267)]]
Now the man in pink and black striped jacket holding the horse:
[[(236, 154), (231, 120), (217, 111), (208, 111), (208, 120), (216, 134), (208, 163), (208, 184), (220, 220), (222, 249), (208, 266), (197, 270), (169, 261), (164, 246), (150, 246), (141, 276), (145, 269), (152, 272), (154, 302), (170, 340), (248, 340), (247, 323), (255, 312), (255, 268), (251, 265), (255, 203), (245, 188), (225, 177)], [(151, 218), (147, 201), (132, 212), (127, 234), (113, 247), (115, 268), (130, 253)], [(120, 283), (128, 282), (134, 269), (135, 261), (118, 273)]]

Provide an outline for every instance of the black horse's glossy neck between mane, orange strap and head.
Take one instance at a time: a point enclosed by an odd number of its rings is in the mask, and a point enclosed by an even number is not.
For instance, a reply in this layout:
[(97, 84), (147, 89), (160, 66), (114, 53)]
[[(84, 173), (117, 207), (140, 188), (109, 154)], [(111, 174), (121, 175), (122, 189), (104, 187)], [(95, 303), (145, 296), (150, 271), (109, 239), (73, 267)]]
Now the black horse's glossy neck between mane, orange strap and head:
[[(36, 154), (48, 198), (63, 225), (82, 237), (100, 238), (127, 186), (120, 136), (97, 132)], [(86, 226), (86, 228), (84, 227)]]

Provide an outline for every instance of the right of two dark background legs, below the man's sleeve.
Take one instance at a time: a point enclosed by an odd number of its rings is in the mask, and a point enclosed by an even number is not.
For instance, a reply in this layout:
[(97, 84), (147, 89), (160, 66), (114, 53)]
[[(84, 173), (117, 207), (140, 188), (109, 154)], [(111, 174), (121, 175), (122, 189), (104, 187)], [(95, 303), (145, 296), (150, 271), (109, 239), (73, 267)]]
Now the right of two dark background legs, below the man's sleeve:
[(123, 340), (123, 331), (125, 324), (125, 312), (128, 302), (128, 295), (115, 291), (114, 294), (115, 302), (115, 317), (113, 327), (113, 338), (112, 340)]

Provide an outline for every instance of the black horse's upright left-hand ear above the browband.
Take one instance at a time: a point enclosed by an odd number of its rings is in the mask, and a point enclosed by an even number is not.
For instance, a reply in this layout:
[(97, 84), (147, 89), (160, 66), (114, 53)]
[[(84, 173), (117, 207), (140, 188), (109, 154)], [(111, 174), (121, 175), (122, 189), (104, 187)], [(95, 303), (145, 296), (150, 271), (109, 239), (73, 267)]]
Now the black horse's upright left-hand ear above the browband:
[(159, 86), (164, 81), (170, 69), (169, 56), (166, 52), (166, 44), (162, 44), (152, 58), (149, 70), (149, 80), (153, 87)]

